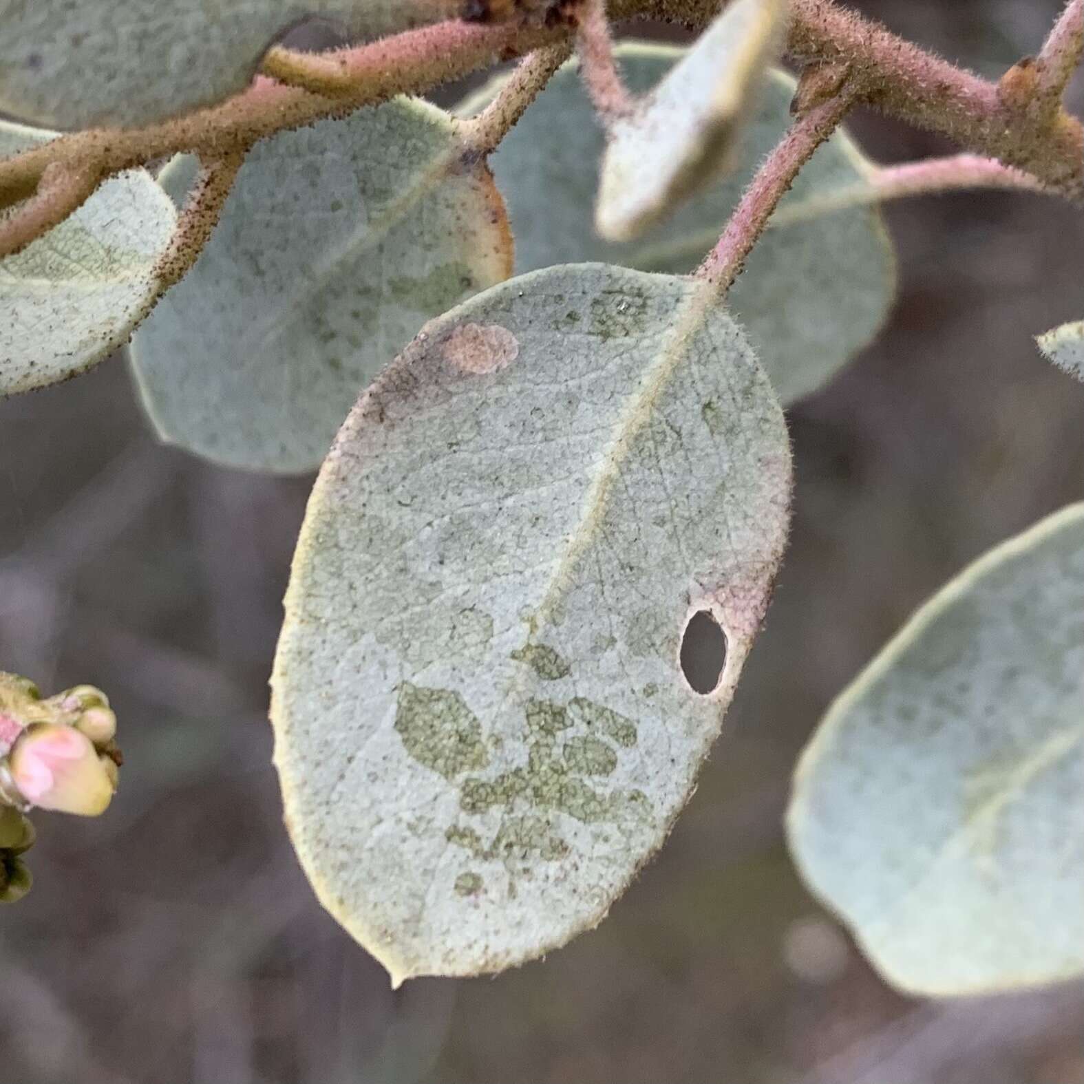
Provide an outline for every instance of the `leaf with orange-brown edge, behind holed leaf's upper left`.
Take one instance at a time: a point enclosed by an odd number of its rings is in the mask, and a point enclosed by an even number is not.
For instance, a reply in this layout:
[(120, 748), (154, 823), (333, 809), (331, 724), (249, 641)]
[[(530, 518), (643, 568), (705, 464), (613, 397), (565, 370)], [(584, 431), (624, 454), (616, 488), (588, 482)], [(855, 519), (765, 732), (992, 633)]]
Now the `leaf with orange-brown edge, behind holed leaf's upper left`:
[[(359, 391), (430, 317), (512, 273), (504, 205), (436, 106), (396, 99), (256, 146), (132, 361), (163, 439), (315, 468)], [(180, 198), (194, 173), (175, 159)]]

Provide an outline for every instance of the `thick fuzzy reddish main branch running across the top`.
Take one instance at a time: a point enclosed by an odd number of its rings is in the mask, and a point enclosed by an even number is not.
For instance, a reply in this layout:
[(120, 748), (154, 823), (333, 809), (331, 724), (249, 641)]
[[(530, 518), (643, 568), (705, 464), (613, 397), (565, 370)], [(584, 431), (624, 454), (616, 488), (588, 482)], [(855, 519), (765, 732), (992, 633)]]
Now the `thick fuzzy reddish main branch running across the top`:
[[(608, 14), (702, 28), (717, 8), (718, 0), (612, 0)], [(573, 30), (570, 20), (559, 15), (551, 25), (438, 23), (334, 54), (334, 81), (339, 76), (343, 81), (343, 93), (334, 98), (261, 77), (244, 93), (185, 117), (141, 129), (63, 136), (0, 162), (0, 208), (34, 195), (53, 164), (107, 177), (179, 151), (212, 156), (246, 151), (279, 131), (341, 117), (398, 93), (425, 93), (499, 61), (567, 40)], [(1017, 166), (1069, 197), (1079, 198), (1084, 190), (1084, 129), (1060, 106), (1048, 122), (1029, 122), (1001, 100), (996, 85), (833, 0), (791, 0), (788, 52), (802, 64), (847, 65), (849, 81), (862, 89), (863, 99), (892, 116)], [(273, 53), (272, 67), (281, 60)]]

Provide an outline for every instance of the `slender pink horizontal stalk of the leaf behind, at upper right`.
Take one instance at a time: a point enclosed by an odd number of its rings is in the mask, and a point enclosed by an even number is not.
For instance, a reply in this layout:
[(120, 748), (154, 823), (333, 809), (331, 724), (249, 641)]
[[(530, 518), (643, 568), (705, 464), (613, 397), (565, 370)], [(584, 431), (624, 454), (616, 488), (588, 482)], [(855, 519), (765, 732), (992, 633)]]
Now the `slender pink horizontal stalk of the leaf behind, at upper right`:
[(906, 196), (937, 195), (967, 189), (1003, 189), (1014, 192), (1047, 192), (1049, 189), (1031, 173), (1003, 166), (995, 158), (977, 154), (954, 154), (944, 158), (907, 162), (899, 166), (875, 167), (868, 181), (812, 196), (792, 207), (780, 207), (772, 216), (772, 227), (792, 225), (849, 207), (888, 203)]

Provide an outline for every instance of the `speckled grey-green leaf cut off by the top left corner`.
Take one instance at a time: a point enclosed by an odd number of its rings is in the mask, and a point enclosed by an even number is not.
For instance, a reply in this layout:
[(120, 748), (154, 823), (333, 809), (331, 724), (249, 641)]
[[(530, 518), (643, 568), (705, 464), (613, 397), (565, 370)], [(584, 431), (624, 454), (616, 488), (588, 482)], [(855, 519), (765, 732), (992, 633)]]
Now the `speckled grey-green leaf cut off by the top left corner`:
[(0, 111), (57, 128), (138, 127), (244, 90), (305, 16), (357, 39), (452, 13), (441, 0), (0, 0)]

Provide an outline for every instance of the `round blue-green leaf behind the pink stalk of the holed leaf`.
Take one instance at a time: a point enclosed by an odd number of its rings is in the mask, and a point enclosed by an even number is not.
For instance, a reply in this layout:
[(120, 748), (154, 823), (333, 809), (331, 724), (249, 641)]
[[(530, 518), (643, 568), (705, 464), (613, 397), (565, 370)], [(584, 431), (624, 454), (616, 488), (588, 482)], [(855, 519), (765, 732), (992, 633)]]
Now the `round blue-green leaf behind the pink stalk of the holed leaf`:
[[(618, 48), (625, 81), (646, 91), (682, 55), (673, 47)], [(491, 101), (503, 80), (460, 112)], [(676, 212), (664, 228), (631, 244), (595, 236), (591, 202), (603, 133), (573, 64), (563, 67), (491, 158), (516, 235), (516, 270), (599, 260), (645, 271), (693, 270), (715, 243), (753, 170), (790, 122), (795, 81), (774, 72), (740, 142), (740, 165), (726, 181)], [(783, 209), (799, 209), (837, 189), (868, 183), (869, 167), (837, 132), (798, 176)], [(816, 390), (880, 328), (895, 292), (892, 247), (873, 207), (850, 208), (786, 229), (770, 229), (728, 305), (753, 340), (784, 404)]]

